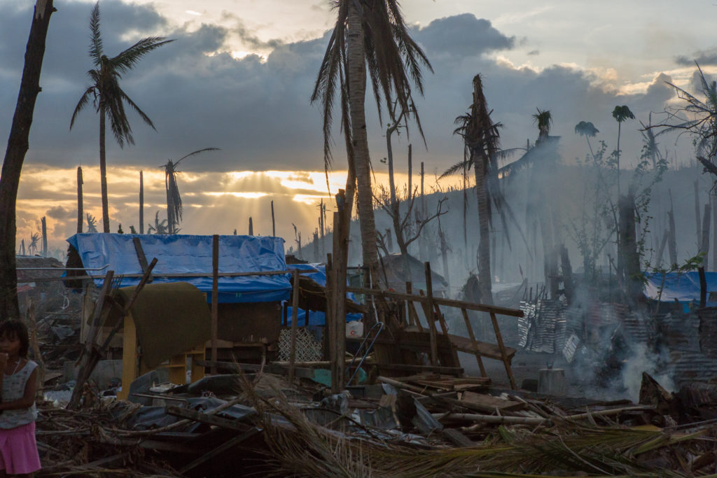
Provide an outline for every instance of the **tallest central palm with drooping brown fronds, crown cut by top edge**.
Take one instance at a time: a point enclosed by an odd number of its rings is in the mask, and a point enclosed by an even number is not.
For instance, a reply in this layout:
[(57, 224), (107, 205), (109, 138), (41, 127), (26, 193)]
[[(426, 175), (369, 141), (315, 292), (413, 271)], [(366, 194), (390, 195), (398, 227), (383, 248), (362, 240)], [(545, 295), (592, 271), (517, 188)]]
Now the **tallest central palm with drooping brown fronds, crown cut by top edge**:
[(412, 112), (423, 135), (413, 105), (411, 83), (422, 94), (421, 67), (424, 65), (431, 71), (432, 68), (422, 49), (410, 37), (397, 0), (337, 0), (334, 5), (338, 12), (336, 25), (319, 68), (311, 102), (319, 101), (323, 110), (324, 166), (328, 183), (333, 105), (336, 96), (340, 98), (341, 128), (348, 157), (347, 207), (343, 214), (351, 217), (356, 191), (364, 264), (369, 266), (376, 284), (379, 255), (364, 111), (366, 70), (379, 108), (379, 121), (381, 106), (389, 107), (395, 100), (399, 111)]

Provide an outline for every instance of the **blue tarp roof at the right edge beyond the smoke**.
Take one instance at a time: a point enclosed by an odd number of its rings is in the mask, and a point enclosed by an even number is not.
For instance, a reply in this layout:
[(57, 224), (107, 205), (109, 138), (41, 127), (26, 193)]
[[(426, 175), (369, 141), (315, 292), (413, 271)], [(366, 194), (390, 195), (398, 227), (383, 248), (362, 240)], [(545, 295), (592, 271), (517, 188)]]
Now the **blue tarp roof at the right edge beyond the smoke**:
[[(705, 272), (707, 279), (707, 306), (716, 307), (717, 302), (709, 302), (710, 292), (717, 292), (717, 272)], [(668, 272), (664, 274), (655, 272), (647, 274), (645, 296), (660, 302), (700, 302), (700, 275), (698, 272)], [(662, 287), (662, 295), (660, 295)]]

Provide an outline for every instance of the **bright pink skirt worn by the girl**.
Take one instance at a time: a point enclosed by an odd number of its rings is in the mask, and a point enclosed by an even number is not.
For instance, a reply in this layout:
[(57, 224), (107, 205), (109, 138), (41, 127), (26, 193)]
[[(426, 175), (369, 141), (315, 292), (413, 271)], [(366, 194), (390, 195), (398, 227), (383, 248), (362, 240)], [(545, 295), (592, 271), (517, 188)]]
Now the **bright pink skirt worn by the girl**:
[(35, 442), (35, 422), (0, 429), (0, 470), (7, 474), (34, 473), (41, 468)]

